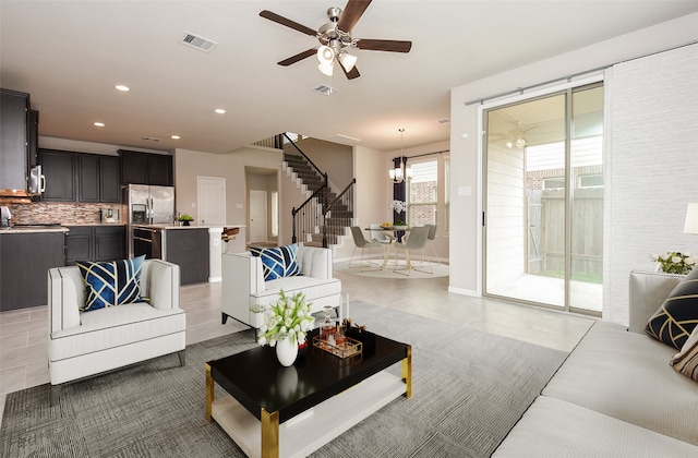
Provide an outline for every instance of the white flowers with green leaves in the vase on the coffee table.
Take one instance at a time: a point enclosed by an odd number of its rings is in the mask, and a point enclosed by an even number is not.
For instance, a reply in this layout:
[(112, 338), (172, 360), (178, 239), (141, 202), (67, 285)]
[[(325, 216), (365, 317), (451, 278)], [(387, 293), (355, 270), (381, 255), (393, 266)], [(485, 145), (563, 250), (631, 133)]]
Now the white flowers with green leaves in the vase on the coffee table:
[(291, 343), (301, 345), (305, 335), (313, 328), (315, 318), (310, 314), (310, 305), (305, 303), (305, 294), (297, 292), (292, 298), (279, 292), (279, 300), (264, 312), (264, 323), (257, 332), (261, 346), (275, 347), (276, 342), (290, 338)]

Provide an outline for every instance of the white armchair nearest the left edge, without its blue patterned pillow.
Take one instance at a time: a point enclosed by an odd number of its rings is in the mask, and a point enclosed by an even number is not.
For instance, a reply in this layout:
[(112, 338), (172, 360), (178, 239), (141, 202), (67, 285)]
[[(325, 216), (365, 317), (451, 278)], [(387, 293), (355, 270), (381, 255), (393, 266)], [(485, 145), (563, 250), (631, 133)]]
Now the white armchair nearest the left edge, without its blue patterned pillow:
[(184, 365), (185, 314), (179, 306), (179, 266), (145, 260), (134, 302), (81, 312), (86, 288), (76, 266), (48, 272), (48, 365), (51, 406), (61, 384), (179, 352)]

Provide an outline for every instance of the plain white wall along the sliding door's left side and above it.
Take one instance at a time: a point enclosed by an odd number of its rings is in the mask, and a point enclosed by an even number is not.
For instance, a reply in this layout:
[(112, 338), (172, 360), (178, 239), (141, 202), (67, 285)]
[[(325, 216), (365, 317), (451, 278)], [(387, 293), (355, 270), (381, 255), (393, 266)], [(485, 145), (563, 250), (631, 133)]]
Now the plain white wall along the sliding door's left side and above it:
[[(477, 104), (470, 106), (465, 104), (685, 45), (696, 39), (697, 23), (698, 14), (690, 14), (452, 91), (450, 226), (460, 228), (461, 232), (458, 238), (453, 238), (454, 241), (450, 243), (450, 291), (473, 296), (481, 293), (480, 117)], [(512, 97), (512, 99), (515, 98)], [(693, 176), (689, 177), (688, 168), (681, 170), (679, 173), (685, 174), (683, 179), (695, 179)], [(472, 190), (471, 195), (458, 196), (458, 188), (465, 186)]]

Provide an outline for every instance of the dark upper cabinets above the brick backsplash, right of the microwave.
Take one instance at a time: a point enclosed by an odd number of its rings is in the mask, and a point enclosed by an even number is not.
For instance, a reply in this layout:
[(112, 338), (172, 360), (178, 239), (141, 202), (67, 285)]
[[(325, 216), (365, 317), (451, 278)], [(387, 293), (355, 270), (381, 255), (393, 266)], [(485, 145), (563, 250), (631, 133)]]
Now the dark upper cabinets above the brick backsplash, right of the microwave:
[(119, 158), (87, 153), (39, 149), (47, 202), (121, 202)]

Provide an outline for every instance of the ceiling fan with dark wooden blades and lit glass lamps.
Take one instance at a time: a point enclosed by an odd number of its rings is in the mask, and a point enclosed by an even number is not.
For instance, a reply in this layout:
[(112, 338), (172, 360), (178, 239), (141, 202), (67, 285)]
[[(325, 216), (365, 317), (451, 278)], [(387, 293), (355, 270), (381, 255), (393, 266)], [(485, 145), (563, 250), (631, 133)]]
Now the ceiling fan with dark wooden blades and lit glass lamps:
[(361, 76), (356, 67), (356, 56), (349, 53), (352, 49), (364, 49), (371, 51), (409, 52), (412, 41), (390, 40), (390, 39), (365, 39), (353, 38), (351, 31), (357, 25), (363, 12), (371, 4), (371, 0), (349, 0), (344, 11), (340, 8), (332, 7), (327, 9), (329, 22), (313, 31), (302, 24), (280, 16), (270, 11), (264, 10), (260, 15), (269, 21), (274, 21), (305, 35), (316, 37), (321, 46), (299, 52), (288, 59), (278, 62), (279, 65), (288, 67), (313, 55), (317, 55), (321, 72), (332, 76), (335, 62), (339, 63), (341, 70), (349, 80)]

